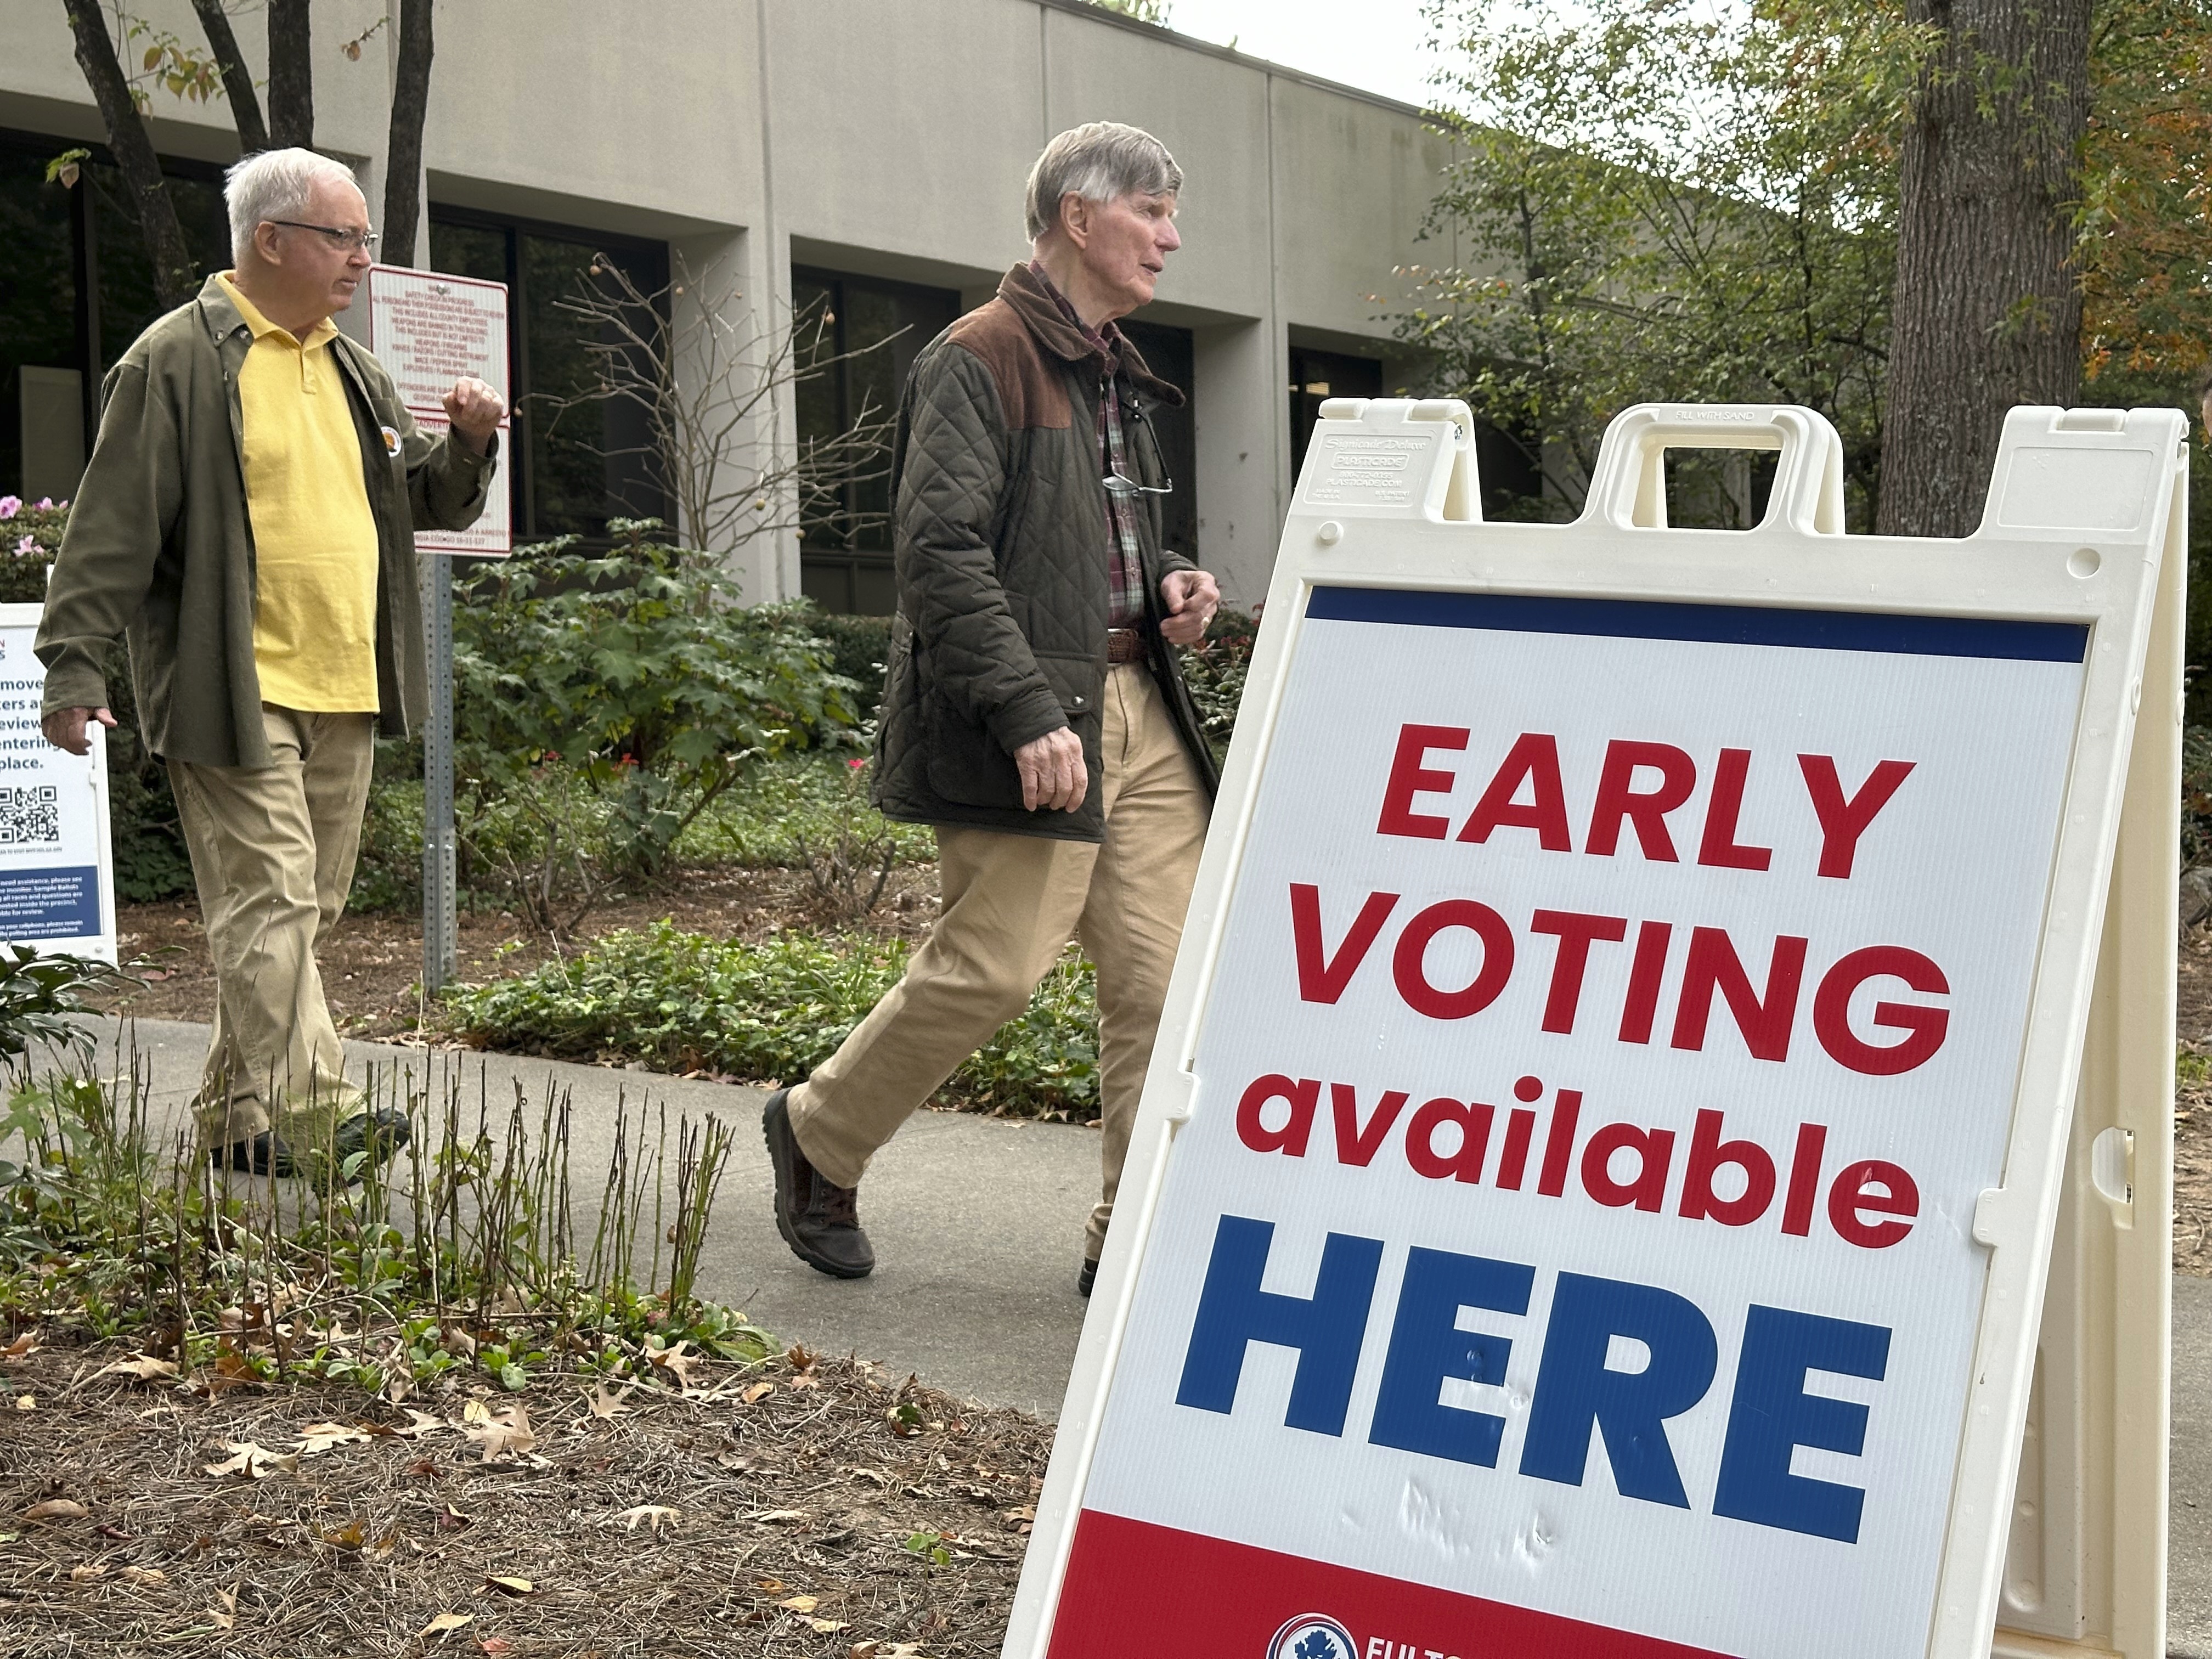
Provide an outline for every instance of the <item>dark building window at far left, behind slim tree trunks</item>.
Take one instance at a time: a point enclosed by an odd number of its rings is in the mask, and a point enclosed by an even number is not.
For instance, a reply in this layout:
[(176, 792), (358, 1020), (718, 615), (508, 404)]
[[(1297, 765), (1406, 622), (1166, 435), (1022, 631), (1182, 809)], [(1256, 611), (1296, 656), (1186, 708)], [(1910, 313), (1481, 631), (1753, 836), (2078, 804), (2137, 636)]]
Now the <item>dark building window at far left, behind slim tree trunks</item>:
[[(75, 495), (100, 378), (161, 314), (137, 210), (104, 148), (46, 184), (69, 139), (0, 133), (0, 495)], [(228, 270), (221, 170), (161, 161), (195, 263)]]

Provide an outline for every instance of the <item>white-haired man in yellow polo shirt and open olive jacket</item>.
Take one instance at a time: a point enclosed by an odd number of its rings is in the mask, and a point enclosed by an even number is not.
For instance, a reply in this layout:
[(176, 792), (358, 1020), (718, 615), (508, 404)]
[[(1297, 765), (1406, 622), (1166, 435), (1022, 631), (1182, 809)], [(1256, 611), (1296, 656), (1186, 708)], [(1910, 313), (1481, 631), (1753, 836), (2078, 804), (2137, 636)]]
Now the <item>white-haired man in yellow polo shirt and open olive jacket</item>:
[(476, 522), (504, 409), (462, 378), (451, 438), (429, 438), (332, 327), (376, 257), (347, 168), (268, 150), (223, 197), (237, 270), (102, 387), (38, 655), (46, 737), (84, 754), (86, 721), (115, 723), (106, 650), (131, 641), (215, 956), (201, 1139), (228, 1170), (292, 1175), (405, 1139), (345, 1082), (314, 945), (354, 878), (374, 734), (427, 703), (414, 531)]

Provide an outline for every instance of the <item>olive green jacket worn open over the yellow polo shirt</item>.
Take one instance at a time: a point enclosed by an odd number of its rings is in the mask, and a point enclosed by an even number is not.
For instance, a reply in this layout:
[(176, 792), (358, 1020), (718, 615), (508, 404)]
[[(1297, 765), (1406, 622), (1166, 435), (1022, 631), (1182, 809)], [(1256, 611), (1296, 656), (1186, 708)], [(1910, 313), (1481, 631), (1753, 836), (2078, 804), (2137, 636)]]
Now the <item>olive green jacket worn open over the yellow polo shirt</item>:
[[(272, 765), (254, 670), (254, 531), (246, 513), (239, 367), (252, 330), (212, 276), (157, 319), (102, 385), (100, 438), (77, 487), (38, 626), (46, 712), (106, 708), (106, 655), (131, 641), (139, 734), (192, 765)], [(484, 511), (493, 460), (429, 438), (385, 367), (330, 343), (352, 394), (376, 515), (376, 695), (405, 737), (429, 701), (414, 533)]]

